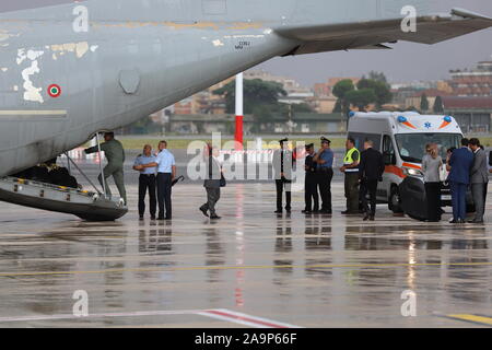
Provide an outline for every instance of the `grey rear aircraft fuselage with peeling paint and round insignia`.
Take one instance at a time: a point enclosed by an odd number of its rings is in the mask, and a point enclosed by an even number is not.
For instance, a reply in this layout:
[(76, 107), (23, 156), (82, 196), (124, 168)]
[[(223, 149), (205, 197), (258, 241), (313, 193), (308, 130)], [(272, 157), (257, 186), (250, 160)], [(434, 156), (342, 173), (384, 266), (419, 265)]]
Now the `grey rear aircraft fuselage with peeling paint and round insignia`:
[(183, 3), (87, 1), (0, 14), (0, 176), (296, 46), (273, 22), (218, 21)]

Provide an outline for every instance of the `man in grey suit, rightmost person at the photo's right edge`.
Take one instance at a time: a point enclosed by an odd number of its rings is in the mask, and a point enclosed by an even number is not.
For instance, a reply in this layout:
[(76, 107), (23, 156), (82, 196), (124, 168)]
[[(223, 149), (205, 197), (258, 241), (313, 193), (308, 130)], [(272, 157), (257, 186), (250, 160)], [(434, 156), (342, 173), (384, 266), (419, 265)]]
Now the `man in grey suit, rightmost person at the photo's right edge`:
[(470, 171), (471, 195), (473, 197), (476, 214), (469, 223), (483, 223), (485, 212), (485, 202), (483, 192), (489, 183), (489, 168), (487, 164), (487, 153), (480, 148), (478, 139), (470, 140), (470, 149), (473, 152), (473, 164)]

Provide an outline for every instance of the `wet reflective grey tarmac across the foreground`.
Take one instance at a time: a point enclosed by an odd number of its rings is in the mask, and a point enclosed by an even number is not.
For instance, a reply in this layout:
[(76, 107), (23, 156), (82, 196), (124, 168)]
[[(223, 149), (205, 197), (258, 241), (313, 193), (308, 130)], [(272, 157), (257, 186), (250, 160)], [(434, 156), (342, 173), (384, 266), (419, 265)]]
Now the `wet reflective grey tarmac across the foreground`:
[(340, 182), (332, 217), (302, 214), (303, 192), (277, 215), (274, 186), (250, 183), (223, 189), (220, 221), (185, 184), (173, 221), (139, 222), (128, 192), (114, 223), (0, 203), (0, 327), (492, 326), (490, 217), (426, 224), (379, 206), (366, 223), (340, 214)]

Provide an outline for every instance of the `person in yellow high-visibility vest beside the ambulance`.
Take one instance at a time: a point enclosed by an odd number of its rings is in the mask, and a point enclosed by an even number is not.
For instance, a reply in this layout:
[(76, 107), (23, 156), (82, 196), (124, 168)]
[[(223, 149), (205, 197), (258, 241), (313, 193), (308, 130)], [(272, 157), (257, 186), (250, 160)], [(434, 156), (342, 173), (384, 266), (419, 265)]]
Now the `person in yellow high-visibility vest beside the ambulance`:
[(347, 153), (340, 172), (345, 174), (347, 210), (342, 214), (359, 214), (359, 162), (361, 154), (355, 148), (355, 140), (347, 139)]

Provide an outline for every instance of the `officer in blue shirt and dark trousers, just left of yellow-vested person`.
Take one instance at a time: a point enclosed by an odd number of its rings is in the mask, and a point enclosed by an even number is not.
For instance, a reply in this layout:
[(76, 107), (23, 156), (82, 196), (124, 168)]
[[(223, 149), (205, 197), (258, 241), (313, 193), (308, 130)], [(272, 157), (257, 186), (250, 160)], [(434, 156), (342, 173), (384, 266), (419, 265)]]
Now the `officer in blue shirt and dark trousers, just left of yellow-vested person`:
[(333, 179), (335, 153), (330, 149), (331, 141), (321, 138), (321, 149), (316, 153), (313, 161), (317, 163), (316, 175), (321, 196), (321, 213), (331, 214), (331, 180)]

